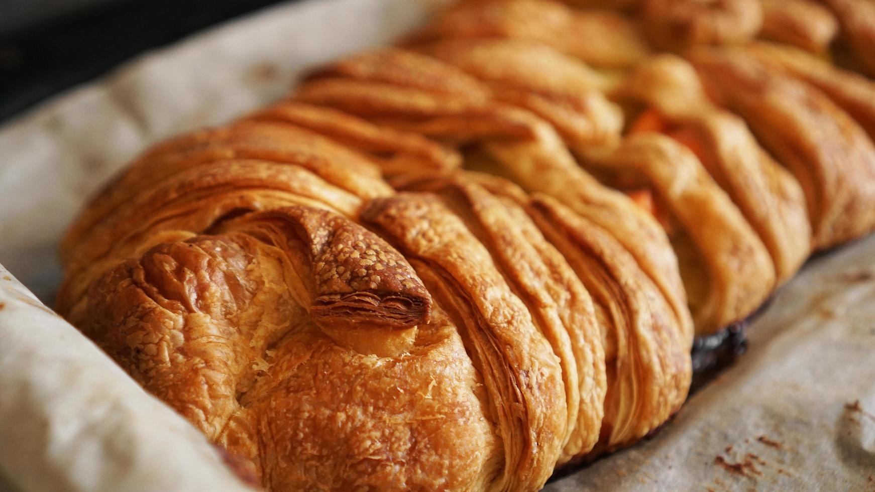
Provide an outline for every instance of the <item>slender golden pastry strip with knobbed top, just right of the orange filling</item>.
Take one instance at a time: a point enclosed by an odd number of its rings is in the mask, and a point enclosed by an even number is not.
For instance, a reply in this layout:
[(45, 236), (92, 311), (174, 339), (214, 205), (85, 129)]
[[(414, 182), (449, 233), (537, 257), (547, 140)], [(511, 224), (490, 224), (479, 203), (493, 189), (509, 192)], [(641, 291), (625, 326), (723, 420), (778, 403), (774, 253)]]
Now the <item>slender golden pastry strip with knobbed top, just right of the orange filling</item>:
[(672, 131), (692, 132), (699, 161), (767, 247), (777, 281), (795, 274), (811, 242), (802, 189), (744, 121), (711, 104), (693, 67), (672, 55), (655, 57), (625, 81), (620, 97), (655, 108)]

